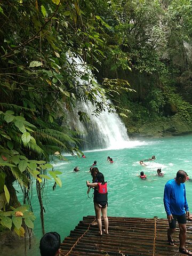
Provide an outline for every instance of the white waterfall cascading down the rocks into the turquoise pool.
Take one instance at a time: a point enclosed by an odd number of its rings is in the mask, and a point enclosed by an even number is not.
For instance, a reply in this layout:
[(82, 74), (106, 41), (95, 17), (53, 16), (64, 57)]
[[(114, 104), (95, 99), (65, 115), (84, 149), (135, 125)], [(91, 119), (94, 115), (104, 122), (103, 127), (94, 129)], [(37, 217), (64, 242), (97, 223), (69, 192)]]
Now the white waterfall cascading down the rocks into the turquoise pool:
[[(81, 74), (87, 74), (86, 63), (83, 62), (79, 57), (68, 57), (68, 62), (73, 65), (75, 69)], [(89, 76), (93, 75), (88, 70)], [(76, 78), (79, 84), (85, 84), (81, 78)], [(89, 122), (82, 123), (79, 121), (78, 115), (76, 117), (70, 116), (70, 123), (77, 131), (81, 131), (82, 150), (93, 150), (93, 149), (120, 149), (130, 148), (134, 146), (142, 145), (139, 141), (130, 141), (127, 135), (126, 127), (122, 123), (121, 119), (116, 113), (108, 113), (108, 111), (102, 111), (99, 116), (93, 115), (95, 107), (91, 102), (78, 102), (76, 113), (81, 110), (90, 117)], [(73, 119), (73, 120), (72, 120)]]

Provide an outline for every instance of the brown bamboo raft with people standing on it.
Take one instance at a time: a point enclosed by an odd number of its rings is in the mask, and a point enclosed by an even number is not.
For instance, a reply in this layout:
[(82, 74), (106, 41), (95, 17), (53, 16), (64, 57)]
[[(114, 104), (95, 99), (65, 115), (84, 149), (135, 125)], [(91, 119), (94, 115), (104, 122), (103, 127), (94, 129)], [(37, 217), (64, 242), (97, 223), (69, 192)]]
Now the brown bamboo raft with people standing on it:
[[(181, 256), (179, 253), (179, 228), (173, 234), (174, 246), (167, 243), (166, 219), (157, 217), (108, 217), (109, 234), (98, 234), (98, 226), (91, 226), (94, 216), (83, 217), (70, 235), (61, 243), (62, 256)], [(102, 223), (103, 224), (103, 223)], [(192, 222), (187, 223), (187, 249), (192, 250)]]

